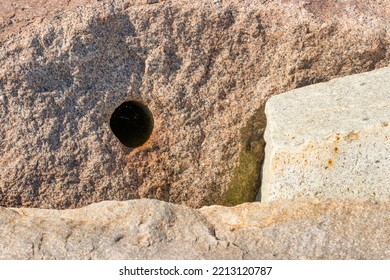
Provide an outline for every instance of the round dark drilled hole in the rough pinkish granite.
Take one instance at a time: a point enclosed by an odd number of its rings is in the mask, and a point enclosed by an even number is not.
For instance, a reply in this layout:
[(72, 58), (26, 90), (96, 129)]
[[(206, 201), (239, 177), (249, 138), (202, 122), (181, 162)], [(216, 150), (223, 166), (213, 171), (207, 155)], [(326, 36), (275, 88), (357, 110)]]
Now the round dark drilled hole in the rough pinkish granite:
[(153, 131), (153, 116), (148, 107), (127, 101), (111, 115), (110, 127), (121, 143), (129, 148), (142, 146)]

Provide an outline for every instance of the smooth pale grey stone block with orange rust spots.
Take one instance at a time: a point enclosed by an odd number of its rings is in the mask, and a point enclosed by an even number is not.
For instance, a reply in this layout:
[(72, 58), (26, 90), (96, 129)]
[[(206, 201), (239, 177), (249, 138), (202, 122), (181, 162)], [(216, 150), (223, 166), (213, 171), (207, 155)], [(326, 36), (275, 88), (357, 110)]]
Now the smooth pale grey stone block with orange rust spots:
[(271, 97), (262, 201), (390, 199), (390, 68)]

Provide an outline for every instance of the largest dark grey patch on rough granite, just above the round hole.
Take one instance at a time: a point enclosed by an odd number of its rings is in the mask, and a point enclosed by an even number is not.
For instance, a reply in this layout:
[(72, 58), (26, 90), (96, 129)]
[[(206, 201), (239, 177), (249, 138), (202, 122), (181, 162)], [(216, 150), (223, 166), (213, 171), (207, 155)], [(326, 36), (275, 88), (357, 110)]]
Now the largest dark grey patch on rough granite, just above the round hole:
[(78, 89), (108, 90), (116, 83), (131, 83), (133, 89), (142, 84), (145, 61), (142, 50), (126, 42), (136, 37), (129, 16), (111, 14), (93, 18), (84, 31), (74, 39), (73, 68)]

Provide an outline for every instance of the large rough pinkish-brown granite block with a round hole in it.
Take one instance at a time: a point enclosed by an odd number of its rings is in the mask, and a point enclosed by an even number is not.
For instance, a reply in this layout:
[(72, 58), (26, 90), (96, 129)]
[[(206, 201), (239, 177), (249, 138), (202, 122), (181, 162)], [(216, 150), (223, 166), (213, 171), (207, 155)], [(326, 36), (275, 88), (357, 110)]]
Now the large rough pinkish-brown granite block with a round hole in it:
[[(254, 200), (264, 100), (389, 62), (388, 0), (149, 2), (1, 2), (1, 205)], [(155, 125), (131, 151), (127, 100)]]

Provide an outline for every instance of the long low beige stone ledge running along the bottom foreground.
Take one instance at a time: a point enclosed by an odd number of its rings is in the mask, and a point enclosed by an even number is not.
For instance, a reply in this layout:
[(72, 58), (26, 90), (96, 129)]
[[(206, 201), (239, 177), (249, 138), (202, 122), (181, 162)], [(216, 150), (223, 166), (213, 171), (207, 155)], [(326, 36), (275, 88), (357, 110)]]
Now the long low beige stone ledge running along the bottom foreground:
[(0, 208), (0, 259), (389, 259), (390, 203)]

